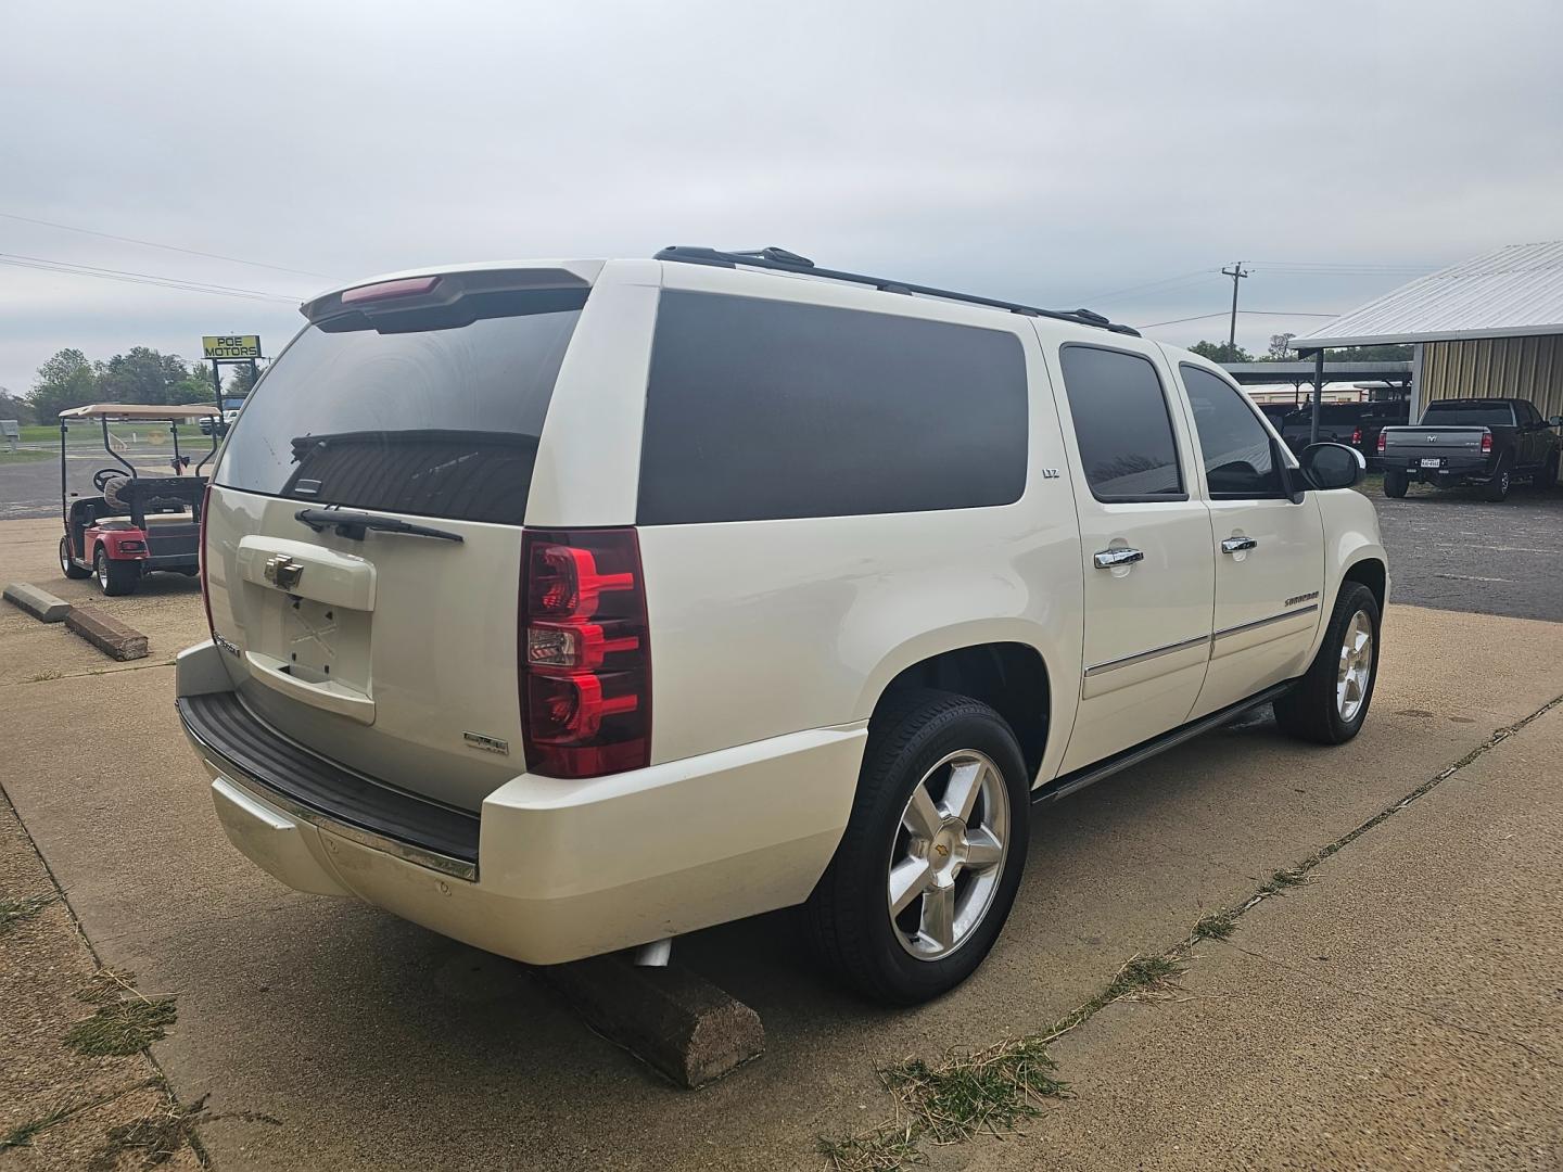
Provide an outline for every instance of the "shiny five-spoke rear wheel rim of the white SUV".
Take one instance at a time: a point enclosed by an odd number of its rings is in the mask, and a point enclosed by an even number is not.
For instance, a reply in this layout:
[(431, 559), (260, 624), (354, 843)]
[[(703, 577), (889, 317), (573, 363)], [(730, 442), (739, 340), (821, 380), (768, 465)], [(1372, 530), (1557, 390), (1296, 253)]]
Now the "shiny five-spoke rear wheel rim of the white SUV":
[(993, 905), (1010, 849), (1010, 791), (963, 749), (922, 775), (900, 814), (886, 899), (900, 947), (922, 961), (960, 949)]

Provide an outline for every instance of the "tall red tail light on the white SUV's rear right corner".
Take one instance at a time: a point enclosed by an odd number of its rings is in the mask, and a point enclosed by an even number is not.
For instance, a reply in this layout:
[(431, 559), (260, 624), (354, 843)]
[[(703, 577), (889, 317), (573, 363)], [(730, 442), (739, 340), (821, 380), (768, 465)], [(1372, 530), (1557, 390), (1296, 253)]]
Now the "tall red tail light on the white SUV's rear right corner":
[(527, 769), (600, 777), (646, 767), (652, 656), (635, 530), (527, 530), (520, 559)]

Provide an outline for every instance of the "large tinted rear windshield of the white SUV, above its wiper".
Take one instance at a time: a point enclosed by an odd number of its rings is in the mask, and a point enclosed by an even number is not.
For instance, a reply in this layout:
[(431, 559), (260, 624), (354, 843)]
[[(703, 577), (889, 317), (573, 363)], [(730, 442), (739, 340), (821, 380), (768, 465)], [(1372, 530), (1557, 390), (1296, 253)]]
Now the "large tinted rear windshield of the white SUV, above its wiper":
[[(308, 327), (256, 384), (217, 483), (311, 505), (522, 523), (585, 291), (475, 294)], [(452, 320), (458, 323), (452, 325)]]

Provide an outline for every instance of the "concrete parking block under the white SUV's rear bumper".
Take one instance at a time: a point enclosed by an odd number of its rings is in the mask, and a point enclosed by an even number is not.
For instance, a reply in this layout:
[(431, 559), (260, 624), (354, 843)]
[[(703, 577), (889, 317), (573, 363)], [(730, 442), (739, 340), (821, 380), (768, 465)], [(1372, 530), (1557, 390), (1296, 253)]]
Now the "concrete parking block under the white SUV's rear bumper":
[(703, 1086), (766, 1049), (758, 1013), (675, 964), (594, 956), (536, 972), (588, 1025), (678, 1086)]

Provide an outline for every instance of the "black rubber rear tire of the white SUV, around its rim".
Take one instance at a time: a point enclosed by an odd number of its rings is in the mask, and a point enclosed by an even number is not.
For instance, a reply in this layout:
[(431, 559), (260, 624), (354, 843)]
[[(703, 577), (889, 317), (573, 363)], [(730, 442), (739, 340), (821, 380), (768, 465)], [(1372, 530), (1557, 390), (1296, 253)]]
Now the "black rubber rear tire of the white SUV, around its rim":
[[(892, 852), (908, 831), (902, 814), (913, 791), (952, 753), (988, 758), (1008, 800), (1007, 850), (997, 864), (986, 909), (939, 958), (914, 956), (891, 919), (888, 883)], [(932, 784), (930, 784), (932, 789)], [(997, 792), (997, 791), (996, 791)], [(978, 799), (972, 824), (991, 819)], [(997, 803), (996, 803), (997, 805)], [(886, 1005), (917, 1005), (949, 992), (982, 964), (1014, 903), (1030, 839), (1025, 761), (1010, 725), (988, 705), (932, 689), (886, 700), (869, 722), (869, 739), (847, 830), (803, 906), (805, 934), (830, 972), (857, 992)], [(942, 850), (935, 845), (933, 850)], [(950, 858), (949, 852), (942, 852)], [(957, 852), (960, 856), (960, 852)], [(927, 858), (935, 858), (930, 850)], [(977, 872), (964, 872), (966, 883)], [(960, 892), (960, 875), (955, 877)], [(967, 892), (972, 889), (967, 888)], [(952, 897), (952, 899), (958, 899)], [(916, 919), (922, 897), (902, 917)]]

